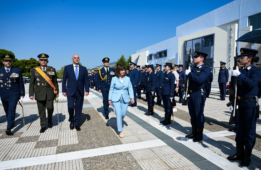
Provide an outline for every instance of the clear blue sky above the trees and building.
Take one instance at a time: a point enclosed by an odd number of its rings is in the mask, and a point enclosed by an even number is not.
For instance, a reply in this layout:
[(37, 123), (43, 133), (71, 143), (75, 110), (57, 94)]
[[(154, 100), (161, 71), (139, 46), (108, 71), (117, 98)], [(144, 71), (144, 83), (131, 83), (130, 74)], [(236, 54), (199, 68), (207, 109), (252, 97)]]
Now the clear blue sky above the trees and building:
[(0, 49), (19, 60), (46, 53), (57, 70), (78, 54), (92, 68), (172, 38), (178, 25), (231, 1), (1, 0)]

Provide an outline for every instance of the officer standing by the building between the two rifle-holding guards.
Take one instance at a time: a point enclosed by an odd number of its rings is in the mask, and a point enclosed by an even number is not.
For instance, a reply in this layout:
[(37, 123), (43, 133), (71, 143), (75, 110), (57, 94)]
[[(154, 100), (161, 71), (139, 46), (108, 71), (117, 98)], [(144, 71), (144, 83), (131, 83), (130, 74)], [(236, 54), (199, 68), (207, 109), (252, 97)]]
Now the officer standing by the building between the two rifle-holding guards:
[(226, 63), (222, 62), (218, 73), (218, 85), (220, 91), (220, 98), (218, 100), (225, 100), (226, 98), (226, 85), (229, 79), (228, 69)]

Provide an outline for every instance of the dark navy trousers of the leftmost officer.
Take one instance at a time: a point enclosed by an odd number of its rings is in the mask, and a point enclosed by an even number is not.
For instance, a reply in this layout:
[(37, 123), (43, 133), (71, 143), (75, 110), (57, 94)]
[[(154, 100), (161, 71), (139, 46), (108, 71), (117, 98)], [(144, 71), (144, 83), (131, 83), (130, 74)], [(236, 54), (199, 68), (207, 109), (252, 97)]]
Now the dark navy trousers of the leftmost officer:
[(14, 119), (15, 119), (15, 111), (17, 106), (18, 100), (14, 101), (2, 101), (3, 108), (6, 112), (6, 118), (7, 118), (7, 129), (12, 129), (14, 125)]

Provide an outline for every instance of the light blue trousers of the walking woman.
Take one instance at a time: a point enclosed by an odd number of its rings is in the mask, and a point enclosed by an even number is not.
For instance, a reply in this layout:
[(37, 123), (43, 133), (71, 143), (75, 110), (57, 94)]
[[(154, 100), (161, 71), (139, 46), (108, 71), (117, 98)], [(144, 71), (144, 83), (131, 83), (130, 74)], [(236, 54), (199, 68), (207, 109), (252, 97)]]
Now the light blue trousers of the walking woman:
[(111, 103), (112, 103), (112, 105), (114, 107), (114, 111), (116, 113), (118, 131), (121, 132), (122, 131), (122, 120), (124, 119), (124, 117), (127, 113), (128, 103), (124, 102), (122, 96), (117, 102), (112, 101)]

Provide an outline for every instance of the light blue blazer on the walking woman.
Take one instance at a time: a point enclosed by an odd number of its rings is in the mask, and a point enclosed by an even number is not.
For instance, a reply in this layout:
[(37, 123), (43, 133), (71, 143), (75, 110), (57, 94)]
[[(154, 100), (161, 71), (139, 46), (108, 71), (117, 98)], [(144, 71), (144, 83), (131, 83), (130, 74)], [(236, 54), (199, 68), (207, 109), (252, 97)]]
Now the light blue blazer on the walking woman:
[[(128, 92), (129, 90), (129, 92)], [(123, 92), (123, 94), (122, 94)], [(131, 80), (129, 77), (123, 77), (123, 83), (118, 76), (112, 78), (110, 83), (110, 90), (109, 90), (109, 100), (113, 102), (117, 102), (120, 100), (121, 96), (125, 103), (129, 102), (129, 95), (130, 98), (134, 98), (133, 88), (131, 85)]]

